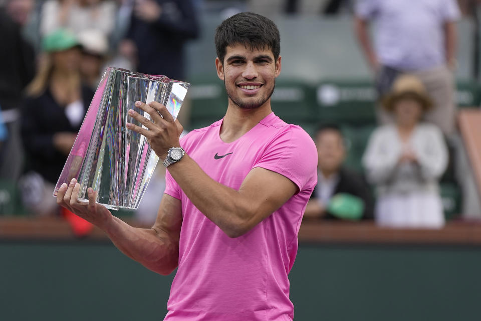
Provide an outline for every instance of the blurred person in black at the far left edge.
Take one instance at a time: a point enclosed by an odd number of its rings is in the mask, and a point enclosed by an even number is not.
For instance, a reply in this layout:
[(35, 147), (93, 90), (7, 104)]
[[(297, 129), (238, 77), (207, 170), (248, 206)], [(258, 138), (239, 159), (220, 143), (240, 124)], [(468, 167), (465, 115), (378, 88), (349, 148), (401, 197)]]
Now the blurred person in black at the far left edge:
[(0, 148), (0, 178), (16, 181), (22, 172), (23, 150), (19, 110), (22, 92), (35, 74), (35, 53), (22, 36), (32, 1), (9, 0), (0, 7), (0, 105), (9, 135)]

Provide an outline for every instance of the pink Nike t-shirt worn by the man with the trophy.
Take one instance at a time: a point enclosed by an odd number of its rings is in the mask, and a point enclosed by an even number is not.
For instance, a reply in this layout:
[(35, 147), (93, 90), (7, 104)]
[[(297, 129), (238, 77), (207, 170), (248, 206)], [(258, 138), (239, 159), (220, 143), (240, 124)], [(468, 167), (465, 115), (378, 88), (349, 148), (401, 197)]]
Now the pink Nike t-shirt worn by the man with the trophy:
[[(212, 179), (238, 190), (256, 167), (277, 172), (299, 188), (251, 231), (229, 238), (205, 217), (166, 174), (165, 193), (182, 202), (179, 266), (165, 320), (292, 320), (288, 273), (297, 234), (317, 182), (317, 151), (299, 126), (274, 113), (231, 143), (220, 139), (222, 120), (191, 131), (181, 145)], [(266, 186), (274, 189), (274, 186)], [(209, 191), (205, 191), (208, 197)]]

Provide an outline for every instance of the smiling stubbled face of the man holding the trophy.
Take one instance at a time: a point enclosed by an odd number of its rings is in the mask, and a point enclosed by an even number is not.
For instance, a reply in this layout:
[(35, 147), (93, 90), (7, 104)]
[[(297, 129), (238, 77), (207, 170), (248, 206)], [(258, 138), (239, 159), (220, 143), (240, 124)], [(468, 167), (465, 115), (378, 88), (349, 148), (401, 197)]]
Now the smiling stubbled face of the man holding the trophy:
[(224, 81), (229, 104), (254, 109), (270, 103), (281, 57), (274, 60), (270, 49), (251, 49), (243, 44), (226, 48), (224, 61), (215, 59), (217, 76)]

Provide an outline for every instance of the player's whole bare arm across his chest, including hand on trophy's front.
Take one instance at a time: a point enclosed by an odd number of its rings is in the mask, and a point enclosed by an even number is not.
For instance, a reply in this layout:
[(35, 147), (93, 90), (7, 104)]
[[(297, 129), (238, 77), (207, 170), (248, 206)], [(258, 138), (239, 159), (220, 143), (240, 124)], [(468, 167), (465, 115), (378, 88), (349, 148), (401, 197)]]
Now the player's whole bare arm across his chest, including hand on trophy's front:
[[(159, 103), (140, 103), (138, 107), (148, 112), (153, 121), (130, 112), (130, 115), (148, 130), (133, 124), (127, 124), (127, 127), (146, 136), (160, 159), (165, 159), (170, 147), (180, 146), (180, 124), (174, 121), (167, 109)], [(312, 145), (315, 156), (314, 143)], [(316, 166), (316, 162), (311, 166), (314, 174)], [(279, 209), (300, 188), (300, 183), (294, 183), (287, 177), (288, 174), (285, 176), (267, 168), (269, 167), (253, 168), (239, 190), (211, 179), (188, 154), (185, 154), (180, 162), (170, 165), (168, 170), (200, 212), (228, 236), (238, 237)]]

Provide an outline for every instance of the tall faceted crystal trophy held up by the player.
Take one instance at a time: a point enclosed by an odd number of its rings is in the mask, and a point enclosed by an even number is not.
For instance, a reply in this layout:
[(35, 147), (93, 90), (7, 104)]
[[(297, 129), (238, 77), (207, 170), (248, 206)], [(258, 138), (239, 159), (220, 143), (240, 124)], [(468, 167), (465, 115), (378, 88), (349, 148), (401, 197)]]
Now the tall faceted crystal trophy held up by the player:
[(159, 157), (145, 136), (125, 127), (131, 122), (146, 128), (127, 111), (133, 109), (150, 119), (135, 102), (157, 101), (175, 119), (189, 86), (166, 76), (108, 67), (53, 195), (75, 178), (80, 184), (80, 201), (88, 202), (87, 188), (92, 187), (98, 191), (97, 202), (109, 209), (137, 209)]

